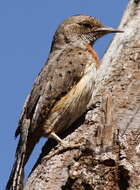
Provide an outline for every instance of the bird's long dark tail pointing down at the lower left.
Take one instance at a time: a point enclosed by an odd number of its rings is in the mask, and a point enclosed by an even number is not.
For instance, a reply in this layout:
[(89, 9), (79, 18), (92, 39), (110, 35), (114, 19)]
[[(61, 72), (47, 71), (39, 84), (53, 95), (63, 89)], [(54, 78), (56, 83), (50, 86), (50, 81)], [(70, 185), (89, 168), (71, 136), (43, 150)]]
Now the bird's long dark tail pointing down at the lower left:
[(39, 140), (37, 133), (32, 134), (30, 137), (29, 126), (30, 122), (25, 120), (24, 127), (21, 127), (20, 140), (16, 151), (16, 160), (13, 165), (9, 180), (5, 190), (22, 190), (24, 180), (24, 166), (27, 163), (34, 146)]

